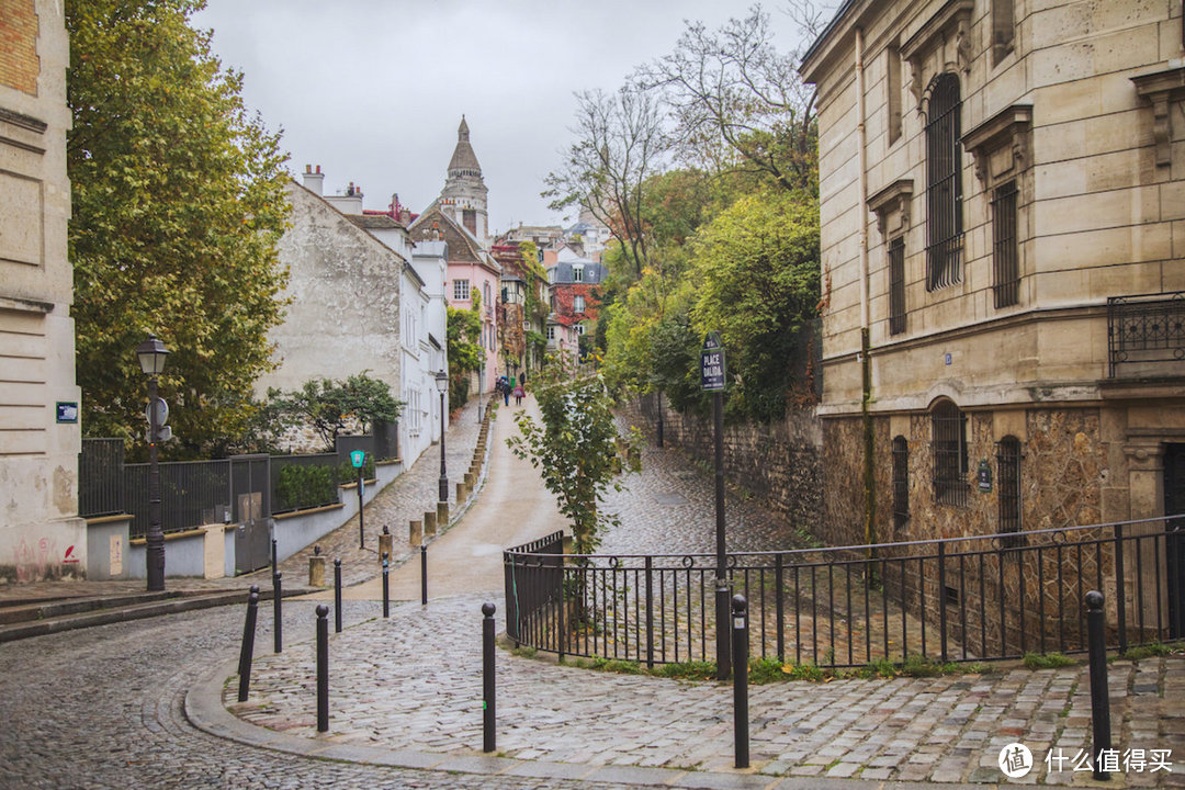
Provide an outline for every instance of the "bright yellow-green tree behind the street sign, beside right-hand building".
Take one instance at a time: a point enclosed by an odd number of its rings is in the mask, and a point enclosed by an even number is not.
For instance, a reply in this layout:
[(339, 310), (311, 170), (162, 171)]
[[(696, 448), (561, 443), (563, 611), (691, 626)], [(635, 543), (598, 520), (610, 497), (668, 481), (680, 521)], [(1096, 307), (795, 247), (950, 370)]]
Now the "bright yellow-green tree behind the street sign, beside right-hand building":
[(819, 303), (819, 207), (801, 193), (738, 200), (697, 235), (692, 326), (719, 332), (729, 411), (781, 417), (794, 385), (799, 335)]

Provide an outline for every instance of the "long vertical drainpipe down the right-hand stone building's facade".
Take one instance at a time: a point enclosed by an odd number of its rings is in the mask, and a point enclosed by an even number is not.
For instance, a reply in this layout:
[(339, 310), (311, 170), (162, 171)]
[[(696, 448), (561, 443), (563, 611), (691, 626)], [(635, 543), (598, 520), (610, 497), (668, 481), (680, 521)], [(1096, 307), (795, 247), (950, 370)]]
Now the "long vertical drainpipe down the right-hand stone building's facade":
[[(876, 544), (876, 479), (873, 476), (873, 452), (876, 441), (872, 431), (872, 360), (869, 355), (869, 167), (867, 167), (867, 130), (864, 124), (867, 113), (864, 105), (864, 31), (856, 28), (856, 107), (857, 107), (857, 149), (859, 150), (859, 191), (860, 208), (860, 428), (864, 444), (864, 542)], [(869, 550), (872, 557), (872, 550)]]

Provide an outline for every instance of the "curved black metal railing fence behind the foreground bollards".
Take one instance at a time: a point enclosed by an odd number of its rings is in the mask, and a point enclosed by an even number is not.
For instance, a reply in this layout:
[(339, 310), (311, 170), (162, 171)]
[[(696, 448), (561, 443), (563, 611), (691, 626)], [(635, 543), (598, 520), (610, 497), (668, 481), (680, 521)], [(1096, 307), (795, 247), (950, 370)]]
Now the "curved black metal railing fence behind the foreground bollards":
[[(505, 552), (506, 629), (559, 655), (715, 661), (715, 557)], [(854, 667), (909, 656), (1017, 659), (1087, 649), (1089, 590), (1109, 644), (1185, 637), (1185, 519), (878, 546), (730, 554), (750, 655)], [(1122, 595), (1119, 595), (1119, 592)]]

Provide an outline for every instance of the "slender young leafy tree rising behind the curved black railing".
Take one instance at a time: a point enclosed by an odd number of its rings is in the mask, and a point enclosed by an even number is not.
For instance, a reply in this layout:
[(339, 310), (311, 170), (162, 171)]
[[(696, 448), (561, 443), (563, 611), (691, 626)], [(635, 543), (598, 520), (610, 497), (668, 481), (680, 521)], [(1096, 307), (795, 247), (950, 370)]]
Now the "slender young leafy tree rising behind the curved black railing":
[[(621, 471), (619, 435), (613, 402), (597, 375), (574, 377), (571, 360), (551, 357), (531, 381), (542, 423), (525, 410), (514, 416), (520, 435), (506, 441), (520, 458), (540, 470), (543, 482), (572, 526), (577, 554), (590, 554), (601, 542), (600, 532), (617, 524), (600, 508)], [(636, 443), (636, 433), (629, 444)], [(634, 454), (627, 452), (627, 457)]]

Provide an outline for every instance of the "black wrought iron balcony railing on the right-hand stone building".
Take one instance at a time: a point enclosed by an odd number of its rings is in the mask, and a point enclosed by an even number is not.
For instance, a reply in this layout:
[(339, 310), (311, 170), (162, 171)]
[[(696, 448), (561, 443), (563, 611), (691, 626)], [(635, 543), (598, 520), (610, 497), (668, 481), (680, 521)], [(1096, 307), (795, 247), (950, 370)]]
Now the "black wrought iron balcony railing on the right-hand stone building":
[(1120, 365), (1135, 374), (1185, 375), (1185, 291), (1107, 300), (1108, 377)]

